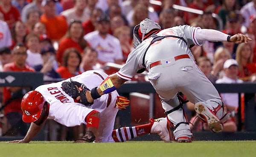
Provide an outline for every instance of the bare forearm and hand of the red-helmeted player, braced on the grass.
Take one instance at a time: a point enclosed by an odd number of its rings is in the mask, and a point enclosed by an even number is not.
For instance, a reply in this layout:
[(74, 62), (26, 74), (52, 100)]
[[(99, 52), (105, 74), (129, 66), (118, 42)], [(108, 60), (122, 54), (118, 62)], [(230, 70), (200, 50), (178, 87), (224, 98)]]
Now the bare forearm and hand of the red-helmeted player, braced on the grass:
[(26, 136), (23, 138), (23, 140), (14, 140), (14, 141), (9, 141), (7, 143), (29, 143), (43, 128), (45, 121), (46, 120), (44, 120), (44, 122), (41, 125), (36, 125), (35, 123), (31, 123), (29, 130)]

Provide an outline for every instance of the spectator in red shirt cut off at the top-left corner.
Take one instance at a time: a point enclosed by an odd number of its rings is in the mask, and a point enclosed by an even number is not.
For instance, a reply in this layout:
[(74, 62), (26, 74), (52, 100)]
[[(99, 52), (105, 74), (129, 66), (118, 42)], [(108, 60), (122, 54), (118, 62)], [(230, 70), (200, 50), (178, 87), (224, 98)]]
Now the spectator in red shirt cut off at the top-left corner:
[(3, 13), (5, 22), (8, 24), (9, 28), (12, 28), (12, 25), (20, 20), (19, 10), (12, 6), (12, 0), (1, 0), (0, 3), (0, 12)]

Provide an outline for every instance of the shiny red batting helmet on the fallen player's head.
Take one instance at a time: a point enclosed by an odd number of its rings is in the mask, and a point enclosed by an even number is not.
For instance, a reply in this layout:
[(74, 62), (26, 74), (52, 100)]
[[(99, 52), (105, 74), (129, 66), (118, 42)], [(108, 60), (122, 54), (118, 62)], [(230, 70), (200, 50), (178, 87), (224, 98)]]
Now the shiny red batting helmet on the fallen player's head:
[(21, 101), (22, 120), (26, 123), (38, 120), (45, 102), (46, 100), (39, 91), (29, 91), (26, 93)]

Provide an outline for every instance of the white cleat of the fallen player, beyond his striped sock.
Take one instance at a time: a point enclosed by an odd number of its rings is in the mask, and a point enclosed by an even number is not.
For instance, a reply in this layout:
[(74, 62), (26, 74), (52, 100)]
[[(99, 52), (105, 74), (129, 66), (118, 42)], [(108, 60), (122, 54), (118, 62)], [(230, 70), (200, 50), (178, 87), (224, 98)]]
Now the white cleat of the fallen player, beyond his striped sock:
[(158, 118), (156, 120), (154, 120), (153, 118), (150, 118), (149, 122), (152, 125), (151, 131), (150, 131), (151, 133), (158, 134), (164, 142), (171, 141), (172, 134), (170, 130), (170, 123), (166, 117)]

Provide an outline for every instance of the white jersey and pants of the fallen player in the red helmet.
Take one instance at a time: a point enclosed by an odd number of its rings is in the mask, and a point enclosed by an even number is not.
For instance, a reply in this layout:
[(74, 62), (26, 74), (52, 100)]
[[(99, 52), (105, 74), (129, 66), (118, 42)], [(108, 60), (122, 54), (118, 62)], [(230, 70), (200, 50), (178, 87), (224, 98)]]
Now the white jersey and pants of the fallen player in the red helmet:
[[(96, 73), (98, 74), (96, 74)], [(86, 71), (75, 77), (71, 77), (73, 81), (83, 83), (87, 88), (92, 89), (102, 82), (101, 75), (104, 79), (108, 76), (102, 71)], [(70, 81), (70, 79), (64, 80)], [(39, 91), (50, 104), (49, 118), (61, 123), (64, 126), (72, 127), (86, 124), (84, 118), (93, 109), (100, 112), (99, 128), (96, 133), (96, 142), (114, 142), (111, 136), (114, 126), (116, 113), (115, 108), (117, 91), (111, 93), (111, 103), (108, 104), (108, 94), (102, 95), (99, 99), (94, 100), (92, 106), (83, 106), (75, 103), (74, 99), (66, 94), (61, 88), (61, 82), (51, 83), (39, 86), (35, 91)]]

